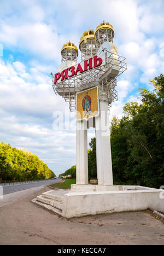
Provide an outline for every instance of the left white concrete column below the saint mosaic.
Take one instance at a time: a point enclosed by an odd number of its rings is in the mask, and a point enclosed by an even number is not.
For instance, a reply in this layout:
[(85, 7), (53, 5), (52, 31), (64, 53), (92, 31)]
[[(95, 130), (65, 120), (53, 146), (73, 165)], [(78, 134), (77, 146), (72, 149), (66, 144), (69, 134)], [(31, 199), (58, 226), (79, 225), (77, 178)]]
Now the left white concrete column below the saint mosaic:
[(88, 184), (87, 121), (77, 121), (77, 184)]

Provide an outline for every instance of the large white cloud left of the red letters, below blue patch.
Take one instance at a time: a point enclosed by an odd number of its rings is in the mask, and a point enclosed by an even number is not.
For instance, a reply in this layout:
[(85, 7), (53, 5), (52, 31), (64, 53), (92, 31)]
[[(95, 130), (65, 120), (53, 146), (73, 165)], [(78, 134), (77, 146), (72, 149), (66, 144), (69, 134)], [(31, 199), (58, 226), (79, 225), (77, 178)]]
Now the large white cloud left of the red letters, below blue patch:
[[(62, 109), (58, 107), (60, 104), (65, 106), (62, 98), (55, 98), (49, 77), (35, 68), (31, 68), (29, 74), (19, 75), (21, 70), (25, 72), (25, 66), (20, 62), (7, 66), (0, 63), (1, 108), (12, 113), (50, 117), (55, 109)], [(24, 78), (31, 82), (26, 82)], [(34, 81), (36, 83), (32, 83)]]

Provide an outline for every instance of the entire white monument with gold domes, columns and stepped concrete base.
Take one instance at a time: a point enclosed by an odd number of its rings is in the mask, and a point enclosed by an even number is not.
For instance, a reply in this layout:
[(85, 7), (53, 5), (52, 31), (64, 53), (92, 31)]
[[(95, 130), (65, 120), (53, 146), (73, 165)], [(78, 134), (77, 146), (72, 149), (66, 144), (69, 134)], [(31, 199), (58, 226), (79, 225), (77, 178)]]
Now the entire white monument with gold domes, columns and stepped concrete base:
[[(126, 70), (125, 58), (118, 55), (113, 44), (112, 25), (103, 22), (96, 31), (85, 31), (80, 38), (81, 61), (100, 56), (103, 63), (98, 68), (89, 69), (68, 79), (59, 79), (52, 86), (57, 95), (61, 95), (71, 111), (75, 110), (76, 94), (97, 86), (99, 115), (89, 120), (77, 120), (77, 184), (71, 190), (51, 190), (34, 199), (33, 202), (48, 208), (66, 218), (89, 214), (123, 211), (141, 211), (151, 208), (164, 211), (162, 189), (139, 186), (113, 185), (112, 156), (110, 148), (110, 129), (108, 108), (117, 100), (116, 78)], [(57, 72), (76, 65), (78, 49), (71, 42), (63, 45), (62, 64)], [(81, 63), (84, 67), (84, 62)], [(96, 130), (96, 156), (98, 185), (88, 181), (87, 129)]]

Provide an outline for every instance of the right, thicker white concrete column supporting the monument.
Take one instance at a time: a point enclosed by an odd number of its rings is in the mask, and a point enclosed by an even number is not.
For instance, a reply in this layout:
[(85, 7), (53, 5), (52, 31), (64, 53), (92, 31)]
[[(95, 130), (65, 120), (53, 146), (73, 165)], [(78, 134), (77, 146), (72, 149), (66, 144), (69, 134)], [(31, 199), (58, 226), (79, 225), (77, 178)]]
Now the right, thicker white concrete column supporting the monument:
[(98, 185), (113, 185), (108, 103), (99, 101), (96, 117), (96, 159)]

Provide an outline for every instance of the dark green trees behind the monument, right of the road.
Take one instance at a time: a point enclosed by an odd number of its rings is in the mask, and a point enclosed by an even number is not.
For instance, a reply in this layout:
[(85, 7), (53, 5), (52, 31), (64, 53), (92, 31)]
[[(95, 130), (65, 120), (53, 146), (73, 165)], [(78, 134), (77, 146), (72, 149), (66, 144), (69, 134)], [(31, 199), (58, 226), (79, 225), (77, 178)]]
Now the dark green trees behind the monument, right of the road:
[[(121, 119), (113, 117), (110, 140), (114, 184), (154, 188), (164, 184), (164, 75), (150, 84), (153, 91), (139, 89), (139, 101), (126, 103)], [(90, 148), (89, 179), (97, 177), (96, 138), (91, 139)], [(75, 166), (66, 172), (75, 178)]]

